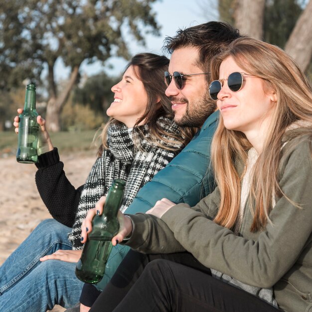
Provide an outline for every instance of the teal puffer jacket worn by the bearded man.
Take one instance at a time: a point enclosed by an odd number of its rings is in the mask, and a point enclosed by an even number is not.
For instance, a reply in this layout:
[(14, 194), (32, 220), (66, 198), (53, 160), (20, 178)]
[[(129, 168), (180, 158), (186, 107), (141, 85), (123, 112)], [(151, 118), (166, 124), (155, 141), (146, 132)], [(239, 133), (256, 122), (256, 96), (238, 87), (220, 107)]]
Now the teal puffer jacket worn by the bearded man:
[[(213, 176), (207, 168), (210, 162), (210, 143), (218, 117), (218, 111), (210, 115), (191, 142), (141, 188), (126, 210), (127, 214), (146, 212), (161, 198), (168, 198), (176, 204), (194, 206), (214, 189)], [(96, 285), (97, 289), (105, 288), (129, 249), (128, 246), (121, 245), (113, 247), (105, 276)]]

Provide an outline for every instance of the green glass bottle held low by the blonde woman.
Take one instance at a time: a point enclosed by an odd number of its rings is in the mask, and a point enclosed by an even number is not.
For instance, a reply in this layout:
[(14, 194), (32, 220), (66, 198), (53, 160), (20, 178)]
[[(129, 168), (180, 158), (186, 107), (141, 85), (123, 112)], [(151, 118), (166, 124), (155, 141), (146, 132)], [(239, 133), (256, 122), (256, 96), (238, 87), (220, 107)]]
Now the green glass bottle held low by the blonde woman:
[(76, 265), (79, 280), (96, 284), (105, 273), (105, 266), (112, 250), (112, 238), (119, 231), (117, 213), (124, 196), (126, 182), (115, 179), (106, 197), (102, 215), (92, 220), (92, 231), (83, 247), (82, 255)]

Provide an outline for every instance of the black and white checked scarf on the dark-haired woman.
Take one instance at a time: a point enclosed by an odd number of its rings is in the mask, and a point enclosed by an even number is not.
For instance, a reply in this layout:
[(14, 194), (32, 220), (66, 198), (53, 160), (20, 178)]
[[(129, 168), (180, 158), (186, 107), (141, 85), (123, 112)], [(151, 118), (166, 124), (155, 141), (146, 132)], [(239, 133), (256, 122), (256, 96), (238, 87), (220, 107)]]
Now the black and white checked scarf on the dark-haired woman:
[[(168, 118), (160, 117), (157, 123), (166, 133), (178, 134), (177, 125)], [(73, 249), (82, 249), (80, 242), (81, 223), (87, 211), (95, 207), (96, 202), (103, 195), (107, 195), (114, 179), (126, 181), (125, 193), (121, 211), (125, 211), (131, 204), (140, 188), (151, 181), (153, 176), (183, 148), (181, 143), (175, 141), (171, 147), (177, 151), (164, 150), (146, 140), (149, 137), (147, 125), (139, 127), (142, 136), (135, 136), (133, 128), (128, 129), (124, 124), (112, 124), (108, 130), (108, 146), (101, 157), (93, 165), (81, 193), (76, 220), (68, 239), (73, 244)], [(140, 138), (140, 139), (139, 139)], [(172, 138), (170, 138), (172, 141)], [(161, 145), (165, 143), (161, 140)], [(167, 144), (166, 144), (167, 145)], [(139, 148), (138, 148), (139, 147)]]

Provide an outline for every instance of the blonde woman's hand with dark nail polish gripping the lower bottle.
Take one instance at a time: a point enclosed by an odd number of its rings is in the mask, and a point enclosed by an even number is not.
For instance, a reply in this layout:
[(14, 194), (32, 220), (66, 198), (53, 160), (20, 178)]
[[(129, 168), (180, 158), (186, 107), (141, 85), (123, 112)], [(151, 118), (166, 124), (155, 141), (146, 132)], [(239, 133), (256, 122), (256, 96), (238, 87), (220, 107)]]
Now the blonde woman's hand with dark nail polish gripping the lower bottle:
[[(106, 196), (102, 196), (96, 203), (95, 208), (88, 211), (86, 218), (82, 221), (81, 225), (81, 242), (84, 244), (87, 241), (87, 235), (92, 231), (92, 219), (96, 214), (102, 214), (103, 207), (105, 205)], [(118, 211), (118, 221), (120, 224), (119, 232), (112, 239), (113, 246), (116, 246), (119, 242), (124, 240), (132, 233), (132, 221), (130, 218), (125, 217), (121, 211)]]

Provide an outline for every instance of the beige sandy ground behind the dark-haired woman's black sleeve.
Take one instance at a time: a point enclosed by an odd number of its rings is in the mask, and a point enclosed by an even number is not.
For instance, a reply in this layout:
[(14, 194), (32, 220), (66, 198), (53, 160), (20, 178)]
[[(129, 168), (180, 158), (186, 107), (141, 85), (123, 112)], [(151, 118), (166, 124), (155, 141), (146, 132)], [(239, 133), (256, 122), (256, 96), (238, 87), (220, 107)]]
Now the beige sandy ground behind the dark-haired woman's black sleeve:
[[(85, 182), (95, 161), (90, 155), (60, 158), (75, 187)], [(14, 156), (0, 158), (0, 265), (40, 221), (51, 217), (37, 191), (35, 172), (35, 165), (20, 164)], [(53, 312), (64, 310), (57, 306)]]

